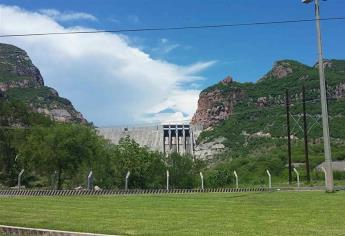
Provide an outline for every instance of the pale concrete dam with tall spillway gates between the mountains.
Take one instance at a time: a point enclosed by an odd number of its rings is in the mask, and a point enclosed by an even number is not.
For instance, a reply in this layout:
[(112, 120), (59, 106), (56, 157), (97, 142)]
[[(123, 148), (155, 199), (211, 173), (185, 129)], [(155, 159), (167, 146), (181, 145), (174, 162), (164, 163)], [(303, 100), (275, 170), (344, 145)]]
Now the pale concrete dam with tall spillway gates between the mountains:
[(163, 153), (178, 152), (194, 154), (195, 140), (202, 131), (201, 126), (190, 124), (155, 124), (133, 127), (97, 128), (100, 135), (118, 144), (129, 136), (140, 146)]

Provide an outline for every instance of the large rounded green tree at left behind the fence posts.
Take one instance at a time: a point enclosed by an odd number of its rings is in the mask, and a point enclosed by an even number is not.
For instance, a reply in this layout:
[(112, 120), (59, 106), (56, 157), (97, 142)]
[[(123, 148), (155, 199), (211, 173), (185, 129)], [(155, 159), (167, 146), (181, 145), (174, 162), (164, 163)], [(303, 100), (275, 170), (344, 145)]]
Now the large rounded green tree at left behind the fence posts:
[(96, 131), (77, 124), (34, 127), (21, 147), (25, 165), (46, 177), (57, 173), (57, 188), (77, 176), (83, 164), (90, 169), (102, 152)]

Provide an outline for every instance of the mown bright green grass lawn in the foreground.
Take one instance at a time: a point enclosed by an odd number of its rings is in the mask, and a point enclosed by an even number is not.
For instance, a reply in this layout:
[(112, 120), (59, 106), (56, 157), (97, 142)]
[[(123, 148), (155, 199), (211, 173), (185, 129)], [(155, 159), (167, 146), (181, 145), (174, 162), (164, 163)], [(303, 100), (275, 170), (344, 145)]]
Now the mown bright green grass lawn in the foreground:
[(345, 192), (4, 197), (0, 224), (120, 235), (345, 235)]

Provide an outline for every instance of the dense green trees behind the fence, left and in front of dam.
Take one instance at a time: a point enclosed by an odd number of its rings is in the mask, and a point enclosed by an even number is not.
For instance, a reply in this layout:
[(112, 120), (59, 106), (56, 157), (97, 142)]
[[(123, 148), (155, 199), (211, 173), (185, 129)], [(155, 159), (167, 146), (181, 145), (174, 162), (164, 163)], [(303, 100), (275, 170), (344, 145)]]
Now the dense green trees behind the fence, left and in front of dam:
[(27, 187), (85, 187), (90, 170), (94, 184), (102, 188), (123, 188), (127, 171), (130, 188), (164, 188), (166, 170), (173, 188), (199, 185), (196, 177), (204, 166), (190, 156), (165, 157), (128, 137), (113, 145), (88, 125), (53, 122), (20, 102), (0, 101), (0, 183), (4, 186), (15, 186), (21, 169), (25, 169)]

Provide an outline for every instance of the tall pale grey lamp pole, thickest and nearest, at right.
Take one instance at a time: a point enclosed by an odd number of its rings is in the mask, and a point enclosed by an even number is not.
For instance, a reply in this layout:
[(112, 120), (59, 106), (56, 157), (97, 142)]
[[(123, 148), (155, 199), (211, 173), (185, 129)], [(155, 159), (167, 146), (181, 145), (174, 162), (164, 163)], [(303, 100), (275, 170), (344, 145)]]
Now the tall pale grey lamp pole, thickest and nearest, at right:
[(327, 172), (326, 191), (333, 192), (334, 191), (333, 168), (332, 168), (331, 142), (330, 142), (329, 124), (328, 124), (326, 79), (325, 79), (325, 71), (323, 67), (323, 50), (322, 50), (322, 39), (321, 39), (320, 1), (319, 0), (315, 0), (315, 16), (316, 16), (317, 43), (318, 43), (318, 51), (319, 51), (319, 75), (320, 75), (323, 145), (324, 145), (324, 150), (325, 150), (325, 168)]

